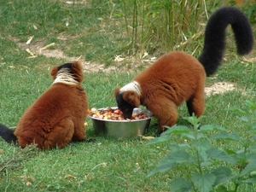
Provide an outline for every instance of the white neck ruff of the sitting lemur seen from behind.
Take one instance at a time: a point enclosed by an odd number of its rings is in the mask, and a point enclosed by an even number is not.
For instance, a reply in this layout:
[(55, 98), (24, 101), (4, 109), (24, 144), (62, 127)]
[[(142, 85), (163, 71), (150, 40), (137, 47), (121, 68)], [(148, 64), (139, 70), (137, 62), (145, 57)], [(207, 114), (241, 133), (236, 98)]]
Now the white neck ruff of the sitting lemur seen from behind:
[(72, 74), (70, 73), (70, 70), (67, 68), (61, 68), (53, 84), (55, 83), (72, 84), (72, 85), (79, 84), (79, 82), (73, 78)]

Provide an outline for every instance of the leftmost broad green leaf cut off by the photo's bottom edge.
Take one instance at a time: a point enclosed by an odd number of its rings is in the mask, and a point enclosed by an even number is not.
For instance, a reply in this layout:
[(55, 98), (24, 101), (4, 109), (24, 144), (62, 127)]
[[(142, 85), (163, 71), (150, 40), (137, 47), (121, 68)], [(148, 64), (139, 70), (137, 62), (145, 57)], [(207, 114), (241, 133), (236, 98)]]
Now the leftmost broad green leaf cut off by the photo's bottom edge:
[(192, 183), (183, 177), (175, 179), (171, 184), (172, 192), (189, 192), (193, 189)]

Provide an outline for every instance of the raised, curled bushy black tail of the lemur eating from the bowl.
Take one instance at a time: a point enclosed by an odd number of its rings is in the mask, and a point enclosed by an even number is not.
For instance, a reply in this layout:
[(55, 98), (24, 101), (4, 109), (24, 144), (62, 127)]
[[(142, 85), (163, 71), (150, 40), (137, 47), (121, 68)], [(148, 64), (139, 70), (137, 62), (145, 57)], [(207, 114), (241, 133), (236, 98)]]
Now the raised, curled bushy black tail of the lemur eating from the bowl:
[(253, 49), (253, 30), (247, 16), (235, 7), (218, 9), (207, 22), (205, 43), (198, 58), (205, 67), (207, 76), (217, 71), (223, 59), (225, 29), (229, 25), (235, 34), (237, 53), (246, 55)]

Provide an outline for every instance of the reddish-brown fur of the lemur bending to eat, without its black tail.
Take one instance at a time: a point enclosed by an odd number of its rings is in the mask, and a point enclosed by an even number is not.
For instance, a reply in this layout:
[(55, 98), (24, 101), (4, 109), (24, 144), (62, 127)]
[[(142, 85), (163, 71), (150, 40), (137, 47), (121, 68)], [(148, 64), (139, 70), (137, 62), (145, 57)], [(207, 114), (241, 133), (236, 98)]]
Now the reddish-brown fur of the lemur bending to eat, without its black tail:
[[(123, 98), (133, 101), (136, 107), (146, 106), (159, 119), (160, 127), (176, 123), (177, 106), (184, 101), (189, 101), (190, 114), (194, 112), (201, 116), (204, 112), (205, 69), (189, 54), (172, 52), (162, 55), (133, 80), (140, 84), (142, 96), (125, 91)], [(114, 96), (118, 91), (119, 88), (114, 90)]]

